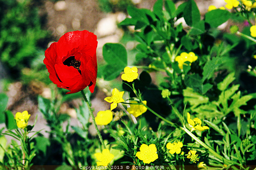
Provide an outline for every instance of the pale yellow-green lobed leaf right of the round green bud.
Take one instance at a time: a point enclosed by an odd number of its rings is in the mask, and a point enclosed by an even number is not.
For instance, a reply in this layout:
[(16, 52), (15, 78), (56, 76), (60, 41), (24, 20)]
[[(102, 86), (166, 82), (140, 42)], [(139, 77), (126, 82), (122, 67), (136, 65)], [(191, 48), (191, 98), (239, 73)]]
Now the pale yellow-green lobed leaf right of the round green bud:
[(184, 103), (187, 101), (191, 105), (191, 108), (195, 108), (196, 106), (207, 103), (209, 101), (209, 98), (206, 96), (203, 96), (199, 93), (196, 93), (193, 91), (192, 88), (187, 87), (183, 90), (183, 96), (184, 96)]

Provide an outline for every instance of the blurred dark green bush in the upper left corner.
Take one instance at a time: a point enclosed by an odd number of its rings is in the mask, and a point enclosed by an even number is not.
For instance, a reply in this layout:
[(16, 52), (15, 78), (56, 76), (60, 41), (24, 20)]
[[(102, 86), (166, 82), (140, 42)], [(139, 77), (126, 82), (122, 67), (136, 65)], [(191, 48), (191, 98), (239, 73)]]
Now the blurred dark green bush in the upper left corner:
[[(21, 69), (30, 67), (39, 56), (48, 36), (42, 29), (36, 1), (0, 1), (0, 61), (11, 76), (17, 76)], [(14, 76), (15, 75), (15, 76)]]

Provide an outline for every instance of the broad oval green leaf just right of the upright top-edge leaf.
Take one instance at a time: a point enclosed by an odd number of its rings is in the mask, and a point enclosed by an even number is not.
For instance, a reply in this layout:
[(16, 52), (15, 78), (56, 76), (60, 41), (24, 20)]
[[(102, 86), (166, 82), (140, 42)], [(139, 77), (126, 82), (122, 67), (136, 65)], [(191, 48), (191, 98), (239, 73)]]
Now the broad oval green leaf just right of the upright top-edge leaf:
[(205, 14), (205, 22), (209, 23), (211, 27), (217, 27), (228, 21), (231, 14), (228, 10), (211, 10)]

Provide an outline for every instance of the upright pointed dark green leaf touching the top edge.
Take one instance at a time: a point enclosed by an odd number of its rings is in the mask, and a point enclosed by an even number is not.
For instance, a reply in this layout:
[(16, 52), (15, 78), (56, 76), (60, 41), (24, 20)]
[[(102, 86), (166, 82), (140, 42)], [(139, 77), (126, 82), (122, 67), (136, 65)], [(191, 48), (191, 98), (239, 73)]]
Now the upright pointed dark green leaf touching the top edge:
[(194, 0), (189, 0), (183, 12), (183, 17), (189, 26), (195, 25), (200, 21), (200, 11)]

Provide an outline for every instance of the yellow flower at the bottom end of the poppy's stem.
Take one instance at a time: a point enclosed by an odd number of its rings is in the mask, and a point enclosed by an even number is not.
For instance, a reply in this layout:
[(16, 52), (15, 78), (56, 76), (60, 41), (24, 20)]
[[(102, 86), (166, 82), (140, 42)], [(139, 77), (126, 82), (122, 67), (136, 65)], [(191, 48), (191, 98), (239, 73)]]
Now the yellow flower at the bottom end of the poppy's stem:
[(97, 166), (107, 167), (112, 161), (114, 155), (109, 152), (109, 149), (103, 149), (102, 153), (95, 153), (94, 156), (97, 158)]

